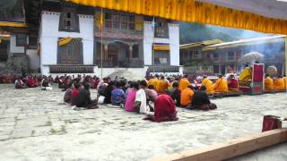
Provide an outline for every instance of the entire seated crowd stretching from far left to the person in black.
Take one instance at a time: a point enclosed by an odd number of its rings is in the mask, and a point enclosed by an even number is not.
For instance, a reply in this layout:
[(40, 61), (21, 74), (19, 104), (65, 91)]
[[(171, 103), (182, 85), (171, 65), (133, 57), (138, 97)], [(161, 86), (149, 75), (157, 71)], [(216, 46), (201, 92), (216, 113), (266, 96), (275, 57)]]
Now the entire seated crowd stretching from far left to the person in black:
[[(109, 77), (100, 79), (90, 75), (64, 75), (56, 78), (27, 75), (15, 80), (15, 88), (40, 86), (43, 90), (51, 90), (52, 85), (57, 84), (59, 89), (65, 91), (64, 101), (72, 109), (94, 109), (100, 104), (111, 104), (122, 107), (127, 112), (145, 114), (146, 120), (166, 122), (178, 120), (176, 106), (199, 110), (216, 108), (208, 97), (209, 84), (198, 89), (191, 81), (194, 80), (187, 75), (167, 78), (155, 74), (137, 81), (117, 77), (115, 80)], [(222, 87), (221, 83), (216, 86)], [(97, 97), (94, 99), (91, 98), (90, 89), (97, 89)]]

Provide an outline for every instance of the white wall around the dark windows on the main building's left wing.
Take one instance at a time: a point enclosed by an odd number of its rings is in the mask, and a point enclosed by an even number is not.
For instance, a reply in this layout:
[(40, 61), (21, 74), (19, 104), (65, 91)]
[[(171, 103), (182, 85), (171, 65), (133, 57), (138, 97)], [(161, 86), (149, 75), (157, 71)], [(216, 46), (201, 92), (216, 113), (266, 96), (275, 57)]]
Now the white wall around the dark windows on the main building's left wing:
[(60, 13), (43, 11), (41, 16), (39, 43), (41, 44), (40, 64), (43, 74), (48, 74), (49, 64), (57, 64), (58, 38), (83, 38), (83, 64), (93, 64), (93, 16), (78, 14), (80, 32), (58, 31)]

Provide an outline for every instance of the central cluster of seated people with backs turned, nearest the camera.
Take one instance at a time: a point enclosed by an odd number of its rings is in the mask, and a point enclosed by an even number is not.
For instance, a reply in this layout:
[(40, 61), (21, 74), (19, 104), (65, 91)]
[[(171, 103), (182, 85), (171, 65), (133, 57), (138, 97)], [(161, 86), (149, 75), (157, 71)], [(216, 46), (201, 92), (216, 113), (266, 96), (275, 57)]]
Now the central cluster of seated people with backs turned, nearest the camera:
[[(164, 76), (152, 76), (147, 80), (127, 81), (104, 78), (97, 86), (98, 96), (91, 99), (91, 83), (70, 80), (65, 89), (64, 101), (76, 107), (97, 108), (99, 104), (111, 104), (127, 112), (146, 114), (145, 120), (154, 122), (177, 121), (176, 106), (187, 109), (210, 110), (216, 105), (210, 102), (206, 87), (196, 90), (187, 80)], [(171, 84), (170, 84), (171, 83)], [(73, 107), (74, 109), (77, 109)], [(154, 112), (154, 114), (152, 114)]]

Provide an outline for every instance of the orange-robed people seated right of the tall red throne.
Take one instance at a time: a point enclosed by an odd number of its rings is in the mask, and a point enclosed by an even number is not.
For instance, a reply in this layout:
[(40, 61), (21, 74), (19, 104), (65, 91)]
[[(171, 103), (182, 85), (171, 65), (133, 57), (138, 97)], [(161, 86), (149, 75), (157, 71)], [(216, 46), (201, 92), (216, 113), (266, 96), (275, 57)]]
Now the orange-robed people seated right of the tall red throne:
[(265, 74), (264, 84), (266, 93), (287, 90), (287, 78), (285, 75), (272, 78), (269, 74)]

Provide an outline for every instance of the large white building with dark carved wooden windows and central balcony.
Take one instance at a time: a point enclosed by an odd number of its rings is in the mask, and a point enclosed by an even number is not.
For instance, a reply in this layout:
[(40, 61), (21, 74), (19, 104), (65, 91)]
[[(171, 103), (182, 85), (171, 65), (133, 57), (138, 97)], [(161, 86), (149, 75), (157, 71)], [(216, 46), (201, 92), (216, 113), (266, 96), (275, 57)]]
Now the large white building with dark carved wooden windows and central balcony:
[[(33, 0), (25, 4), (28, 20), (38, 31), (33, 55), (27, 57), (31, 64), (38, 64), (30, 67), (42, 74), (102, 73), (105, 77), (125, 72), (139, 79), (147, 70), (179, 72), (176, 21), (66, 1)], [(10, 27), (10, 23), (0, 26)], [(17, 27), (28, 28), (25, 25)], [(25, 38), (29, 37), (28, 28)], [(28, 39), (23, 53), (27, 43)]]

